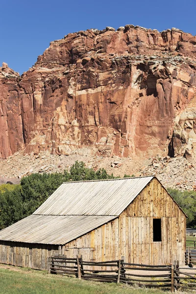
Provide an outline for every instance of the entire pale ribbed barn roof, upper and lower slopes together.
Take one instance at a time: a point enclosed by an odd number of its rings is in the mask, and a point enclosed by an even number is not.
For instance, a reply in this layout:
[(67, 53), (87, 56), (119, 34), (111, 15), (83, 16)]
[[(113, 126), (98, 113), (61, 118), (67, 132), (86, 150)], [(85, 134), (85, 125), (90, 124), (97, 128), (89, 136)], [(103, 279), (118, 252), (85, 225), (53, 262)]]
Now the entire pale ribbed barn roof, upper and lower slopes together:
[(63, 183), (31, 216), (0, 231), (0, 240), (66, 244), (118, 217), (153, 176)]

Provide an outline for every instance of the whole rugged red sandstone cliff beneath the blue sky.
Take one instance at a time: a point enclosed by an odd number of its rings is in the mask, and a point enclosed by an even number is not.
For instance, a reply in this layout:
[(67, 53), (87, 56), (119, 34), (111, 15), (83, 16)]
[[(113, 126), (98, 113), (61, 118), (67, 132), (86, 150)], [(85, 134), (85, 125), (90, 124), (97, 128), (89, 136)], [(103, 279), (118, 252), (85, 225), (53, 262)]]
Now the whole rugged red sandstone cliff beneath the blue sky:
[(21, 77), (0, 68), (0, 156), (192, 156), (196, 152), (196, 37), (126, 25), (68, 34)]

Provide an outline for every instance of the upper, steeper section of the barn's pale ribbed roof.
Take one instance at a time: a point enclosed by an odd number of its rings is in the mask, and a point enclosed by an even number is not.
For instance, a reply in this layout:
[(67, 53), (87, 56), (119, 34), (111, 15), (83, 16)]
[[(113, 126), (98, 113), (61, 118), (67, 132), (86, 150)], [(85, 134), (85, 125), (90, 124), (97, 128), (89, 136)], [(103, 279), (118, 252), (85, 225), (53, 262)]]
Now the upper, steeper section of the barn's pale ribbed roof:
[(63, 183), (34, 214), (119, 216), (152, 178)]

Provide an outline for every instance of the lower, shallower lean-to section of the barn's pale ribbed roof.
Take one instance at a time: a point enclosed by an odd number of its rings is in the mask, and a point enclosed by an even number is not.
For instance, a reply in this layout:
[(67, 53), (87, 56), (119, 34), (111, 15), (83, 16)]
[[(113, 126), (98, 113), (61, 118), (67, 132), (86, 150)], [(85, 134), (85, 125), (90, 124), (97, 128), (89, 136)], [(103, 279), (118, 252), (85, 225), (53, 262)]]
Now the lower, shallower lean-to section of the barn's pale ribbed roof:
[(64, 245), (115, 218), (31, 215), (1, 230), (0, 240)]

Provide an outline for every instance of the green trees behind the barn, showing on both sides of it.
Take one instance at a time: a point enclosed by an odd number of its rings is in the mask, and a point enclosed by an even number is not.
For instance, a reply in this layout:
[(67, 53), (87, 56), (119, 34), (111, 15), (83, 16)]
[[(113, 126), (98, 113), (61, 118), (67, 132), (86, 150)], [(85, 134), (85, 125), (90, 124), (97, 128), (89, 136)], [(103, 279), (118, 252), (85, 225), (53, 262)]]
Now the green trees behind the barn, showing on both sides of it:
[[(76, 161), (70, 171), (32, 173), (22, 178), (18, 185), (0, 185), (0, 229), (31, 215), (63, 182), (112, 178), (114, 175), (109, 175), (104, 169), (94, 171), (86, 168), (83, 162)], [(187, 225), (196, 226), (196, 192), (168, 191), (187, 214)]]

